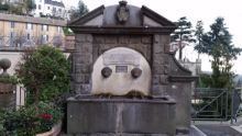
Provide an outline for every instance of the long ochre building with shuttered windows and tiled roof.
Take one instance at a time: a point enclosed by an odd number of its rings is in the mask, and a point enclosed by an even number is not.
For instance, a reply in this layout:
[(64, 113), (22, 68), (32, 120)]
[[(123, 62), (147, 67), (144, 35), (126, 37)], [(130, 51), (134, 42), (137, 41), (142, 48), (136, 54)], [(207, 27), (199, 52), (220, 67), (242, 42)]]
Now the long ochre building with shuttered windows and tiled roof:
[(63, 26), (66, 22), (62, 20), (0, 14), (0, 48), (64, 45)]

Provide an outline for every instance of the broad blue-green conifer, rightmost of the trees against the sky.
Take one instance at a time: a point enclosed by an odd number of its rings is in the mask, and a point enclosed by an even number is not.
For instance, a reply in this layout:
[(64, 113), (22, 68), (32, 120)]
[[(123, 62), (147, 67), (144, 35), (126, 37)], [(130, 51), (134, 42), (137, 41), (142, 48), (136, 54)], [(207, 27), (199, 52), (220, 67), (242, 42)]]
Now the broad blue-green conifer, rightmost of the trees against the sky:
[(210, 32), (202, 34), (200, 44), (195, 46), (195, 50), (213, 57), (213, 48), (217, 46), (217, 43), (220, 42), (222, 48), (226, 48), (228, 54), (237, 59), (242, 48), (234, 47), (232, 44), (232, 35), (229, 33), (223, 21), (224, 19), (220, 16), (216, 19), (216, 22), (210, 25)]

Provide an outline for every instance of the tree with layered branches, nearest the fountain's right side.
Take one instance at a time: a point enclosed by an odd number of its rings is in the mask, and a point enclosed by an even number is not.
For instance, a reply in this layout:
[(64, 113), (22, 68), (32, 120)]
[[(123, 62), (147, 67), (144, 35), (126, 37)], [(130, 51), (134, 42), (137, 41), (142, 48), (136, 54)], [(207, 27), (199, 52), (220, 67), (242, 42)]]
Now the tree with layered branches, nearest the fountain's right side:
[(177, 49), (179, 50), (179, 59), (183, 59), (183, 49), (189, 43), (195, 43), (196, 39), (193, 38), (193, 30), (190, 30), (191, 23), (187, 21), (186, 16), (180, 18), (177, 22), (174, 22), (178, 29), (172, 33), (172, 44), (178, 46)]

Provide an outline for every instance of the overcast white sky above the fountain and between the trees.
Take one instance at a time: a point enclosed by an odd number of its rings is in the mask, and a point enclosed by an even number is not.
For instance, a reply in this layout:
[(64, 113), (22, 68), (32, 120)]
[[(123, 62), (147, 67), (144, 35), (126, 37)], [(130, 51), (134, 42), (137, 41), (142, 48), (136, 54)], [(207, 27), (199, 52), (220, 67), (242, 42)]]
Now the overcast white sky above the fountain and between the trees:
[[(79, 0), (63, 0), (65, 5), (76, 7)], [(119, 0), (82, 0), (91, 11), (100, 5), (118, 4)], [(128, 4), (142, 7), (146, 5), (158, 14), (175, 22), (182, 16), (186, 16), (195, 27), (197, 21), (202, 20), (205, 32), (210, 31), (209, 25), (215, 23), (216, 18), (223, 16), (226, 26), (233, 35), (235, 47), (242, 47), (242, 4), (241, 0), (127, 0)], [(184, 57), (195, 61), (198, 57), (194, 46), (184, 48)], [(211, 66), (207, 55), (200, 55), (202, 59), (201, 70), (211, 71)], [(233, 61), (233, 71), (242, 73), (242, 55)]]

